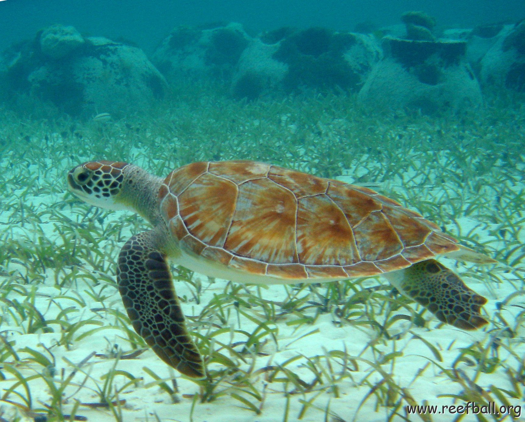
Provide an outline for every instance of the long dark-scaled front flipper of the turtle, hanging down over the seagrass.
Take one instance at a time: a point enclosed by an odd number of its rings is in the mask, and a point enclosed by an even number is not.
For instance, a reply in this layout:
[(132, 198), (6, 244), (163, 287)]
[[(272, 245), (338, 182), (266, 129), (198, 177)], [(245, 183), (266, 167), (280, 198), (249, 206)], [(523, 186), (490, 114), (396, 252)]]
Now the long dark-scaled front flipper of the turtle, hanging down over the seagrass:
[(186, 330), (165, 255), (153, 246), (152, 232), (124, 244), (117, 280), (133, 328), (168, 365), (192, 378), (205, 376), (201, 354)]

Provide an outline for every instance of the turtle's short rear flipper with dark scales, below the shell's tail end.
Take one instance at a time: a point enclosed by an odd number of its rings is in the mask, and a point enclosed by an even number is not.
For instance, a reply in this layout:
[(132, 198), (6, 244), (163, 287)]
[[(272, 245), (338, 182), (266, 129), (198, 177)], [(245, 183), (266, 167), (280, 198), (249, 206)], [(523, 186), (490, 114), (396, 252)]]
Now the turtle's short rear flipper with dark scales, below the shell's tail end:
[(401, 293), (423, 305), (440, 321), (463, 330), (476, 330), (488, 321), (479, 311), (487, 299), (469, 289), (435, 259), (384, 274)]

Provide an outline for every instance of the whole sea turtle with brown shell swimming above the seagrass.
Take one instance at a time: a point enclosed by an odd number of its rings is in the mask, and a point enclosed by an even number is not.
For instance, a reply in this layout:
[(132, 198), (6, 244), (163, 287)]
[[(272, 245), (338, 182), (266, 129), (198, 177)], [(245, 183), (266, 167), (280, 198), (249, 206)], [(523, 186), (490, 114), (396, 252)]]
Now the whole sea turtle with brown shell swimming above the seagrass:
[(487, 323), (480, 315), (487, 300), (434, 257), (494, 261), (371, 189), (241, 160), (188, 164), (166, 178), (121, 161), (91, 161), (67, 180), (83, 201), (138, 212), (153, 225), (122, 247), (118, 287), (134, 329), (188, 377), (206, 373), (167, 258), (241, 283), (381, 274), (440, 321), (464, 330)]

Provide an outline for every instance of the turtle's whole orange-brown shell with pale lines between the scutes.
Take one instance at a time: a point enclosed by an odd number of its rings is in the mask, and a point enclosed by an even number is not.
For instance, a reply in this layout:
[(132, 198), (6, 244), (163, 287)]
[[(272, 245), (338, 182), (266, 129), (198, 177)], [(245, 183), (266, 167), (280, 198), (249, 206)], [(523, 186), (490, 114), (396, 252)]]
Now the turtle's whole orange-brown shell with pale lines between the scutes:
[(435, 224), (371, 189), (253, 161), (181, 167), (159, 198), (182, 248), (251, 274), (369, 276), (459, 248)]

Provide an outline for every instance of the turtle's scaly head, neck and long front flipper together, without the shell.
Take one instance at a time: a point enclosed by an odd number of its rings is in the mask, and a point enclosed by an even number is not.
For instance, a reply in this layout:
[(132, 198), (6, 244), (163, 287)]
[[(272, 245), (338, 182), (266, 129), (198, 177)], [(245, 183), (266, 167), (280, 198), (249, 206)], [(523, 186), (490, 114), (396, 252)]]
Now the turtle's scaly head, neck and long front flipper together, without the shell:
[(166, 261), (166, 254), (176, 255), (176, 250), (171, 236), (166, 236), (169, 231), (156, 203), (161, 182), (140, 167), (119, 161), (92, 161), (68, 174), (69, 189), (86, 202), (139, 212), (154, 225), (122, 247), (117, 267), (119, 292), (133, 328), (159, 358), (199, 379), (205, 377), (204, 362), (186, 329)]

